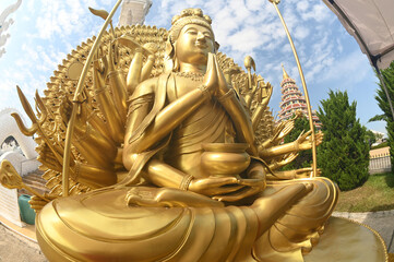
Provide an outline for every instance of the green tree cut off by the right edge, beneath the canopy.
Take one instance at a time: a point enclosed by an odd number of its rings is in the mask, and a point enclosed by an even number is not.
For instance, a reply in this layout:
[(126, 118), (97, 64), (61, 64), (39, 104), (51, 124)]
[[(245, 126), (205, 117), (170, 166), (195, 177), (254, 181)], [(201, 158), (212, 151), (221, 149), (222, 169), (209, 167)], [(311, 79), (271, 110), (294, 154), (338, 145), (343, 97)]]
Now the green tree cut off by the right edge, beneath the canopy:
[[(390, 67), (385, 70), (382, 70), (383, 80), (387, 87), (389, 96), (394, 104), (394, 62), (390, 64)], [(385, 121), (385, 129), (387, 131), (389, 146), (390, 146), (390, 157), (391, 163), (394, 163), (394, 120), (393, 115), (390, 110), (389, 99), (383, 90), (382, 83), (379, 83), (379, 90), (377, 90), (375, 99), (378, 102), (378, 106), (383, 111), (381, 115), (377, 115), (371, 118), (369, 121)], [(394, 171), (394, 166), (392, 165), (392, 170)]]

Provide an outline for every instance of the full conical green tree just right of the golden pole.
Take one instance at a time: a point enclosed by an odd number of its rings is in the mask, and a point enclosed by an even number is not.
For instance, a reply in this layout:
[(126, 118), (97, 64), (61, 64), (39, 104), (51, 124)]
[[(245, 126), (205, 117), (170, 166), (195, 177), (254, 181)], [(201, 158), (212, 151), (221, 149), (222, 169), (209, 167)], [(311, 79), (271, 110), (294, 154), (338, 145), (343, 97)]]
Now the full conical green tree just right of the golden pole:
[(318, 147), (318, 164), (324, 177), (335, 181), (341, 190), (350, 190), (367, 181), (369, 144), (367, 129), (356, 118), (356, 102), (349, 104), (347, 92), (329, 92), (321, 100), (318, 116), (324, 140)]

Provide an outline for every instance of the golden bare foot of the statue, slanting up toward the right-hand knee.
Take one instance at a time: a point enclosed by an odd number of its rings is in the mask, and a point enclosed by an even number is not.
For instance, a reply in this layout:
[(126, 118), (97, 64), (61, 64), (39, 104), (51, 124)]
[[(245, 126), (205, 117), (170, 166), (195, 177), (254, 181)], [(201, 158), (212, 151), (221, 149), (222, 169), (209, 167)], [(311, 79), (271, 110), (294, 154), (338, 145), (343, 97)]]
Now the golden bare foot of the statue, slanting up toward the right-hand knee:
[(266, 231), (297, 201), (312, 191), (312, 183), (295, 183), (254, 201), (252, 209), (259, 217), (259, 235)]

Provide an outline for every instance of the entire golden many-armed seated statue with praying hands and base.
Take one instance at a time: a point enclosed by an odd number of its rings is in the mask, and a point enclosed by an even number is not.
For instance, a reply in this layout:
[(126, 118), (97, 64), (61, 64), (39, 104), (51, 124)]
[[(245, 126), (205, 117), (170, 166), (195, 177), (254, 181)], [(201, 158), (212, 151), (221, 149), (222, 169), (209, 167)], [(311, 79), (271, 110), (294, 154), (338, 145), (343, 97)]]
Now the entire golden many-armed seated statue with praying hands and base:
[[(244, 72), (217, 52), (211, 19), (200, 9), (183, 10), (168, 32), (127, 26), (106, 33), (86, 88), (72, 100), (92, 43), (63, 60), (45, 97), (36, 94), (37, 116), (19, 90), (33, 127), (14, 117), (25, 134), (37, 133), (50, 189), (31, 201), (49, 261), (385, 258), (378, 235), (330, 218), (335, 183), (310, 178), (311, 168), (278, 170), (311, 148), (310, 132), (280, 144), (295, 119), (274, 126), (272, 86), (251, 73), (251, 58)], [(63, 198), (72, 103), (79, 110), (70, 196)], [(318, 143), (322, 139), (318, 133)], [(3, 163), (3, 184), (12, 174)]]

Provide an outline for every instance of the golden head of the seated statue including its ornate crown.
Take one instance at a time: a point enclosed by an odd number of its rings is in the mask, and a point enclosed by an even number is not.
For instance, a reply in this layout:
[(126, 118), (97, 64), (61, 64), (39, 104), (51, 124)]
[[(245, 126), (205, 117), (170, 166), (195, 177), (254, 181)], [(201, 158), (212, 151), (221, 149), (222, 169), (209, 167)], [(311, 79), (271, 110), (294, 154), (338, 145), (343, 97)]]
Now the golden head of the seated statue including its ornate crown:
[(211, 17), (201, 9), (186, 9), (174, 16), (166, 48), (174, 71), (178, 70), (179, 62), (206, 64), (207, 53), (216, 52), (218, 44), (211, 23)]

